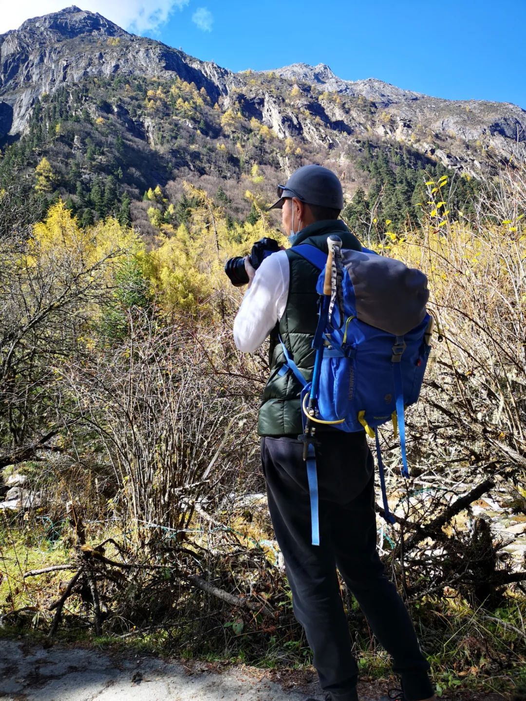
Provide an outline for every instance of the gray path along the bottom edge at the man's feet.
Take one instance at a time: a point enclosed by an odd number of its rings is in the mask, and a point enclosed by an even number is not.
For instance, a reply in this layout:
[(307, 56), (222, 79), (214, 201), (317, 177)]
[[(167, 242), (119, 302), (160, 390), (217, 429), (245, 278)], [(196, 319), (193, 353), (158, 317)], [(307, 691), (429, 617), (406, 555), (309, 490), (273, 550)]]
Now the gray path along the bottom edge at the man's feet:
[[(212, 671), (212, 667), (215, 667)], [(0, 640), (0, 699), (6, 701), (304, 701), (321, 700), (312, 674), (268, 672), (193, 662), (165, 662), (78, 646), (45, 648)], [(375, 701), (387, 687), (361, 683), (361, 700)], [(503, 701), (499, 695), (444, 695), (444, 701)]]

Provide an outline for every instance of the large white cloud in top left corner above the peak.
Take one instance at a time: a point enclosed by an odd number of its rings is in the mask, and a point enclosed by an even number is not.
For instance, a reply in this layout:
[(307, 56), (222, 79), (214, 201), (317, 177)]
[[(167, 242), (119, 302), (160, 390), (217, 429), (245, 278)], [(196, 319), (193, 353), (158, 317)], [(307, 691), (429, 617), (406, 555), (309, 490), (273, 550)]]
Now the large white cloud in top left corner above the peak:
[[(115, 22), (129, 32), (155, 31), (164, 24), (169, 15), (182, 10), (190, 0), (82, 0), (79, 7), (83, 10), (98, 12), (106, 19)], [(22, 22), (33, 17), (47, 15), (67, 7), (74, 0), (22, 0), (22, 2), (2, 1), (0, 13), (0, 34), (8, 29), (18, 29)]]

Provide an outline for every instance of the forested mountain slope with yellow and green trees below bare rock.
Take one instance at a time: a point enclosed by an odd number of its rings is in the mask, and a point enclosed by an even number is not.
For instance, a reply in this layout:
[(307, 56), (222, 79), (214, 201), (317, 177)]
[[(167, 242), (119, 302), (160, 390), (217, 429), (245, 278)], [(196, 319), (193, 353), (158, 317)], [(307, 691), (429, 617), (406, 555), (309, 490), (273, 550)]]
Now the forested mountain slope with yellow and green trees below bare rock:
[[(264, 76), (250, 82), (276, 93), (275, 82)], [(285, 80), (279, 91), (276, 99), (282, 101), (291, 96), (298, 100), (300, 93), (293, 81)], [(19, 225), (43, 218), (48, 207), (62, 199), (83, 227), (111, 216), (123, 225), (133, 223), (148, 237), (155, 236), (161, 223), (176, 228), (186, 223), (183, 181), (205, 190), (233, 226), (254, 222), (256, 205), (261, 208), (274, 200), (283, 169), (292, 172), (302, 163), (326, 162), (344, 180), (347, 177), (350, 189), (343, 216), (360, 234), (369, 232), (373, 219), (380, 236), (389, 228), (386, 219), (401, 229), (416, 224), (427, 202), (424, 183), (442, 175), (449, 178), (443, 199), (452, 215), (473, 214), (478, 179), (373, 135), (341, 147), (282, 139), (249, 116), (242, 94), (230, 99), (236, 101), (228, 109), (220, 108), (204, 88), (198, 90), (177, 77), (162, 81), (134, 76), (127, 81), (117, 74), (84, 81), (74, 90), (59, 88), (37, 100), (25, 134), (4, 144), (0, 189), (16, 189), (18, 200), (25, 202), (18, 211)], [(344, 99), (359, 109), (372, 109), (367, 101)], [(345, 107), (342, 97), (314, 95), (312, 115), (316, 105), (334, 100), (340, 109)], [(318, 122), (324, 128), (319, 117)], [(159, 203), (141, 204), (157, 186), (168, 200), (168, 206), (161, 207), (162, 221), (151, 213), (151, 206), (159, 209)], [(247, 189), (258, 196), (257, 203), (245, 196)], [(12, 217), (9, 210), (0, 233), (12, 226)]]

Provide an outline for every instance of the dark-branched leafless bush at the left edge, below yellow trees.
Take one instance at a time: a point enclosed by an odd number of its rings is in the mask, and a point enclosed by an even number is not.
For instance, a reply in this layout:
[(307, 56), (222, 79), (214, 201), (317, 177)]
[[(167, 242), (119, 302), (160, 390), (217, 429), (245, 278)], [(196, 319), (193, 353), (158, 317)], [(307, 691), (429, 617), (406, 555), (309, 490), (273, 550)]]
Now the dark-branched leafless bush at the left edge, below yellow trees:
[(34, 458), (62, 428), (57, 367), (76, 353), (88, 309), (107, 294), (104, 266), (113, 255), (118, 252), (96, 261), (78, 250), (40, 256), (27, 240), (1, 240), (1, 467)]

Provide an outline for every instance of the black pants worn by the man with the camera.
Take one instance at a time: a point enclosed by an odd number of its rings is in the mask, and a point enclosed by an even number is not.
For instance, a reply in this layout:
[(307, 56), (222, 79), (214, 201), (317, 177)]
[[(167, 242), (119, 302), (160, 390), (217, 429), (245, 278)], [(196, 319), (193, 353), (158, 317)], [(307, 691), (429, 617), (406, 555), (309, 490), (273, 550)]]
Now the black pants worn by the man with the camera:
[(303, 444), (263, 437), (268, 508), (292, 591), (293, 610), (314, 653), (321, 688), (357, 701), (358, 667), (336, 568), (380, 644), (392, 655), (408, 701), (433, 695), (415, 629), (376, 551), (373, 456), (364, 433), (325, 433), (316, 449), (320, 545), (311, 544)]

